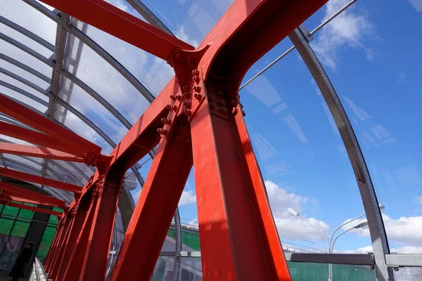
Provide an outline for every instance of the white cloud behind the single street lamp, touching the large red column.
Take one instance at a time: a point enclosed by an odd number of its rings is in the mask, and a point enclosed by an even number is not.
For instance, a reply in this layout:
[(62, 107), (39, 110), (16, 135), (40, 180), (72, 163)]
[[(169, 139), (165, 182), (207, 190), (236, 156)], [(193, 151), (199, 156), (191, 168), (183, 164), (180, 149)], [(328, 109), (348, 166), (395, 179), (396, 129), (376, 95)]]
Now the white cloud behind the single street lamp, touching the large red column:
[[(305, 204), (312, 202), (312, 200), (295, 193), (288, 193), (272, 181), (265, 181), (265, 187), (267, 188), (271, 211), (282, 240), (324, 240), (324, 237), (305, 223), (305, 221), (290, 216), (287, 213), (288, 208), (295, 209), (295, 211), (298, 211), (299, 213), (302, 212)], [(321, 232), (328, 234), (329, 226), (324, 221), (319, 221), (316, 218), (307, 218), (303, 214), (301, 217), (311, 223), (312, 226), (319, 228)]]

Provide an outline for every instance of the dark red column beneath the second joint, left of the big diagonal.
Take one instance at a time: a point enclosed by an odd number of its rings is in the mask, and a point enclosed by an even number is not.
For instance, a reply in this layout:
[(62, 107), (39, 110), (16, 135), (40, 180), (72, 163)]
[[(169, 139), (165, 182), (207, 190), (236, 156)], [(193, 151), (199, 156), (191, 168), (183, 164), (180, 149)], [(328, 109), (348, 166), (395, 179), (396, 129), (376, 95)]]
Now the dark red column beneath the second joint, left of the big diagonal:
[(103, 183), (89, 233), (79, 280), (105, 280), (110, 242), (113, 235), (117, 199), (124, 172), (108, 171)]

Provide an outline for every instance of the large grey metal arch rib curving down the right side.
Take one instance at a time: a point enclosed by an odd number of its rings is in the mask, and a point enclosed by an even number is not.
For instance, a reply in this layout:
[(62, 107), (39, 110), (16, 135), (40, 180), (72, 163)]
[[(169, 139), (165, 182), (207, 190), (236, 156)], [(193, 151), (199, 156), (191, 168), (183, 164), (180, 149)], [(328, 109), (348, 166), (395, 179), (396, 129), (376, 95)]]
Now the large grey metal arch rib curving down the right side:
[(309, 46), (305, 35), (300, 29), (295, 29), (290, 33), (289, 38), (295, 45), (300, 56), (307, 65), (309, 72), (311, 72), (312, 77), (314, 77), (317, 86), (321, 90), (322, 96), (331, 111), (331, 115), (333, 116), (340, 136), (345, 144), (354, 175), (357, 179), (362, 202), (364, 203), (373, 246), (373, 256), (376, 261), (376, 277), (378, 280), (394, 280), (392, 270), (387, 267), (385, 261), (385, 255), (390, 254), (390, 248), (388, 247), (387, 234), (385, 233), (381, 210), (378, 205), (376, 192), (373, 188), (364, 155), (359, 147), (359, 142), (354, 134), (352, 124), (350, 124), (350, 120), (347, 118), (347, 114), (335, 92), (333, 84), (331, 84), (324, 67), (319, 63), (311, 46)]

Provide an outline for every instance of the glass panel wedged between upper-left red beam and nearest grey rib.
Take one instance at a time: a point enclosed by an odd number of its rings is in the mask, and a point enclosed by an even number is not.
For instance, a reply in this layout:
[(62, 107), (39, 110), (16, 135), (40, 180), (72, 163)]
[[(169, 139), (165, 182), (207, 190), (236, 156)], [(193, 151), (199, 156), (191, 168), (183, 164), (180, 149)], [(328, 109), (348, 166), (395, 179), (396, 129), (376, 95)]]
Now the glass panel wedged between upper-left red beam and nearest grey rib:
[(126, 67), (153, 96), (157, 96), (174, 76), (173, 68), (165, 60), (156, 58), (91, 25), (87, 27), (85, 33)]

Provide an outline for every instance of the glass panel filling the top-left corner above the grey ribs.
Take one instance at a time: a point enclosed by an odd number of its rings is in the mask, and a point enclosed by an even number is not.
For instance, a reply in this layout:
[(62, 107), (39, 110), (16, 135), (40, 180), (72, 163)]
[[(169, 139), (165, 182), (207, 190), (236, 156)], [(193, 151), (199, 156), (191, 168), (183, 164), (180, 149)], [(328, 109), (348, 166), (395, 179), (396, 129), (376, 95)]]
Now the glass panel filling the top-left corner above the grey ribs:
[(0, 15), (54, 45), (56, 41), (56, 23), (25, 4), (25, 2), (15, 0), (1, 1)]

